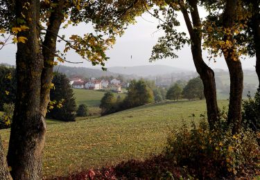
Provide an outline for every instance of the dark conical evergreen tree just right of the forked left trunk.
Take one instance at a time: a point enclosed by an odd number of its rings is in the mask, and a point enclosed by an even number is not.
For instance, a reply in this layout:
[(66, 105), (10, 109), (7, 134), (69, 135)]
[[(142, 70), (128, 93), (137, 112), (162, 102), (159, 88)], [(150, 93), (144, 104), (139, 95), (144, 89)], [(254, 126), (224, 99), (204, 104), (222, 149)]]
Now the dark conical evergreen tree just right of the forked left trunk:
[(62, 73), (55, 73), (52, 83), (54, 87), (50, 92), (50, 110), (46, 114), (46, 117), (64, 121), (75, 121), (76, 100), (73, 97), (73, 89), (69, 84), (69, 79)]

